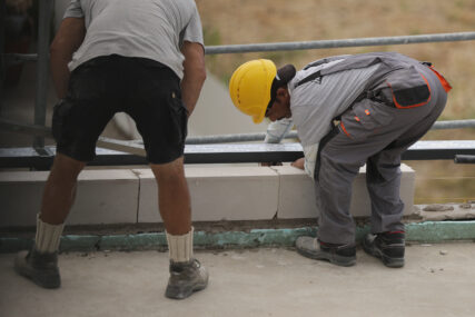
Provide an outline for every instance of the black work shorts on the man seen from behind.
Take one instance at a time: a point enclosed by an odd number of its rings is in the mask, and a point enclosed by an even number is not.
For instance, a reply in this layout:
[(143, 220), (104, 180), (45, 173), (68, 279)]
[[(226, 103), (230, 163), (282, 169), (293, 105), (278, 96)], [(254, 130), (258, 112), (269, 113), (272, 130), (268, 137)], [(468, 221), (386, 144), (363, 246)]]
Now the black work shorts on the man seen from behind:
[(120, 56), (92, 59), (71, 73), (68, 95), (53, 111), (57, 151), (91, 161), (100, 133), (122, 111), (135, 120), (149, 162), (184, 155), (188, 110), (178, 76), (154, 60)]

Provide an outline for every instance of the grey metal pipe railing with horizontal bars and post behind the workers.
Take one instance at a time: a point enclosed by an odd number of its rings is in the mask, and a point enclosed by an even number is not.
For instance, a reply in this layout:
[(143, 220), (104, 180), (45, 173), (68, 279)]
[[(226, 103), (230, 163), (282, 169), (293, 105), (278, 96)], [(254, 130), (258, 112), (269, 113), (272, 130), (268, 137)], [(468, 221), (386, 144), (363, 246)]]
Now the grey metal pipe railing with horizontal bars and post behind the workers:
[[(2, 1), (3, 2), (3, 1)], [(49, 78), (49, 22), (52, 17), (53, 0), (39, 1), (39, 30), (38, 30), (38, 55), (6, 55), (2, 51), (1, 67), (2, 71), (6, 65), (18, 62), (37, 61), (37, 92), (34, 102), (34, 125), (44, 126), (47, 109), (47, 91)], [(0, 10), (4, 14), (4, 10)], [(1, 34), (0, 44), (3, 34)], [(379, 37), (379, 38), (359, 38), (342, 40), (319, 40), (319, 41), (299, 41), (299, 42), (275, 42), (275, 43), (255, 43), (255, 44), (232, 44), (232, 46), (211, 46), (206, 47), (206, 55), (237, 53), (237, 52), (259, 52), (259, 51), (285, 51), (285, 50), (308, 50), (308, 49), (328, 49), (328, 48), (348, 48), (367, 46), (388, 46), (388, 44), (412, 44), (428, 42), (447, 41), (469, 41), (475, 40), (475, 32), (437, 33), (403, 37)], [(2, 47), (0, 46), (0, 49)], [(1, 91), (1, 87), (0, 87)], [(456, 120), (436, 122), (433, 129), (453, 129), (474, 127), (475, 120)], [(231, 136), (207, 136), (190, 137), (187, 143), (217, 143), (217, 142), (241, 142), (263, 140), (264, 133), (243, 133)], [(288, 138), (296, 138), (293, 131)], [(34, 148), (43, 148), (43, 137), (37, 136), (33, 142)]]

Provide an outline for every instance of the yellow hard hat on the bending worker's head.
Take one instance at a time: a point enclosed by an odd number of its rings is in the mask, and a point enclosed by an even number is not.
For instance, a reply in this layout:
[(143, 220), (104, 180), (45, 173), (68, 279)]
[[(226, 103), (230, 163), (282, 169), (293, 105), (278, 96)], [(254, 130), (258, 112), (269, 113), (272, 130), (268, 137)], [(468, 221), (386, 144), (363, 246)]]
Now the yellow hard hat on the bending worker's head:
[(243, 63), (229, 81), (232, 103), (245, 115), (260, 123), (270, 101), (270, 88), (277, 68), (271, 60), (257, 59)]

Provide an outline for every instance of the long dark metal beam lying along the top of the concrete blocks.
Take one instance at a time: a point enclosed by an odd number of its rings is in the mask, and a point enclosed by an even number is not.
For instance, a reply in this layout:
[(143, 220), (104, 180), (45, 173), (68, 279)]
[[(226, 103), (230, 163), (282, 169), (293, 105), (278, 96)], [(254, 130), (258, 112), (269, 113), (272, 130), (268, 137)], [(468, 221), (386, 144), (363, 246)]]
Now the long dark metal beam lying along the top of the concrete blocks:
[[(107, 139), (106, 139), (107, 141)], [(110, 141), (110, 140), (109, 140)], [(125, 143), (130, 148), (131, 142)], [(133, 147), (133, 143), (131, 145)], [(135, 145), (137, 152), (122, 152), (97, 148), (97, 157), (89, 166), (131, 166), (148, 165), (144, 148)], [(47, 151), (38, 153), (33, 148), (0, 149), (0, 168), (31, 168), (48, 170), (52, 165), (56, 147), (46, 147)], [(288, 162), (303, 157), (300, 143), (237, 143), (237, 145), (187, 145), (186, 164), (248, 164), (248, 162)], [(418, 141), (403, 153), (403, 160), (441, 160), (474, 162), (475, 141)]]

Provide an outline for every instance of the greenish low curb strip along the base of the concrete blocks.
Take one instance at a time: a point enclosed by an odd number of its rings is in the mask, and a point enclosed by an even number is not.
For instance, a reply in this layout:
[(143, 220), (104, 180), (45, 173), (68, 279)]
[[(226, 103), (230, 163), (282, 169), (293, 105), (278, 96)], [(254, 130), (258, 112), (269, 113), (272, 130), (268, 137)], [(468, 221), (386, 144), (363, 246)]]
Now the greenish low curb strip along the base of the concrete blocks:
[[(356, 228), (359, 241), (369, 226)], [(316, 236), (317, 228), (293, 229), (251, 229), (249, 231), (206, 232), (195, 231), (194, 242), (197, 249), (293, 247), (300, 236)], [(406, 225), (406, 240), (414, 242), (444, 242), (454, 240), (475, 240), (475, 221), (427, 221)], [(16, 252), (29, 249), (32, 238), (0, 237), (0, 252)], [(151, 250), (167, 249), (165, 232), (136, 235), (69, 235), (61, 237), (60, 251), (97, 250)]]

